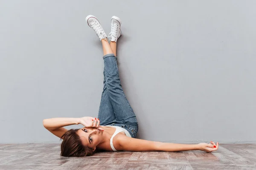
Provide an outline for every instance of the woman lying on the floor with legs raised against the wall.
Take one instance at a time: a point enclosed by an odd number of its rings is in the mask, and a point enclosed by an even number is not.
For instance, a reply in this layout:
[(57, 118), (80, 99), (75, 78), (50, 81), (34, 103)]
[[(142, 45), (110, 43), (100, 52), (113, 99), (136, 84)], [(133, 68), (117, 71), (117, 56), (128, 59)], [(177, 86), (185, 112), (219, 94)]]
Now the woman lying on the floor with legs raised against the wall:
[[(107, 35), (93, 15), (86, 17), (88, 25), (93, 28), (102, 42), (104, 53), (104, 88), (99, 107), (98, 119), (52, 118), (44, 119), (44, 127), (55, 136), (63, 139), (61, 156), (90, 156), (96, 150), (105, 151), (186, 151), (218, 150), (217, 145), (210, 144), (174, 144), (135, 139), (138, 123), (129, 104), (119, 79), (116, 57), (116, 41), (121, 36), (121, 20), (111, 18), (111, 32)], [(64, 126), (81, 124), (81, 129), (67, 130)]]

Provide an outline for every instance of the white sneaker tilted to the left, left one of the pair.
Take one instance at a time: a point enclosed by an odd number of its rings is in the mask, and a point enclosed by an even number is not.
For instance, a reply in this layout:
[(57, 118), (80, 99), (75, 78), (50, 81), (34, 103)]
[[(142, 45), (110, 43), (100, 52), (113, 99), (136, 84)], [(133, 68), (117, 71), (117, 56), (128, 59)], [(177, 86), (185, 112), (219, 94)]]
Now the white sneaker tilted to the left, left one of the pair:
[(93, 28), (100, 40), (107, 40), (107, 35), (96, 17), (94, 17), (93, 15), (88, 15), (85, 20), (87, 21), (88, 26), (90, 26), (90, 28)]

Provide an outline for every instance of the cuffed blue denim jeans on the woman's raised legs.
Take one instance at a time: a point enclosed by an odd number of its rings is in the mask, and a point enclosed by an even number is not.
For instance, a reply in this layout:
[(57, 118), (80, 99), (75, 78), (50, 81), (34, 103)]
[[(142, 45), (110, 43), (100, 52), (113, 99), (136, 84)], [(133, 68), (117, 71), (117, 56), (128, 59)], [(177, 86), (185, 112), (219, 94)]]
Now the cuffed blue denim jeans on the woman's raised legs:
[(138, 122), (122, 89), (117, 68), (117, 57), (114, 54), (107, 54), (103, 59), (104, 87), (98, 114), (100, 125), (122, 127), (128, 130), (131, 137), (135, 138)]

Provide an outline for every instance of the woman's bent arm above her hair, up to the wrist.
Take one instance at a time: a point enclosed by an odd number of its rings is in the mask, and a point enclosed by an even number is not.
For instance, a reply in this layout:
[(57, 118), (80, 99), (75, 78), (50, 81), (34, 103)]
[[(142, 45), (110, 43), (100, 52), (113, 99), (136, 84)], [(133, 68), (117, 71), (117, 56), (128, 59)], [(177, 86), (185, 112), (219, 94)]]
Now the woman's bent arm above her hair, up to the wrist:
[(67, 131), (64, 126), (78, 124), (79, 118), (51, 118), (43, 120), (44, 127), (59, 138)]

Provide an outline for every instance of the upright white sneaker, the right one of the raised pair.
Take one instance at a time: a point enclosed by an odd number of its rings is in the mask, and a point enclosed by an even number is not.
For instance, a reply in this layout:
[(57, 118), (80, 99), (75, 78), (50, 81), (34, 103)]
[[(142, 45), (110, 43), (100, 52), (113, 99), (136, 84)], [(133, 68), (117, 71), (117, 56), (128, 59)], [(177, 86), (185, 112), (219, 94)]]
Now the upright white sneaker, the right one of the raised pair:
[(117, 39), (122, 35), (121, 31), (121, 20), (119, 17), (113, 16), (111, 18), (111, 31), (108, 34), (108, 39), (110, 41), (116, 42)]

